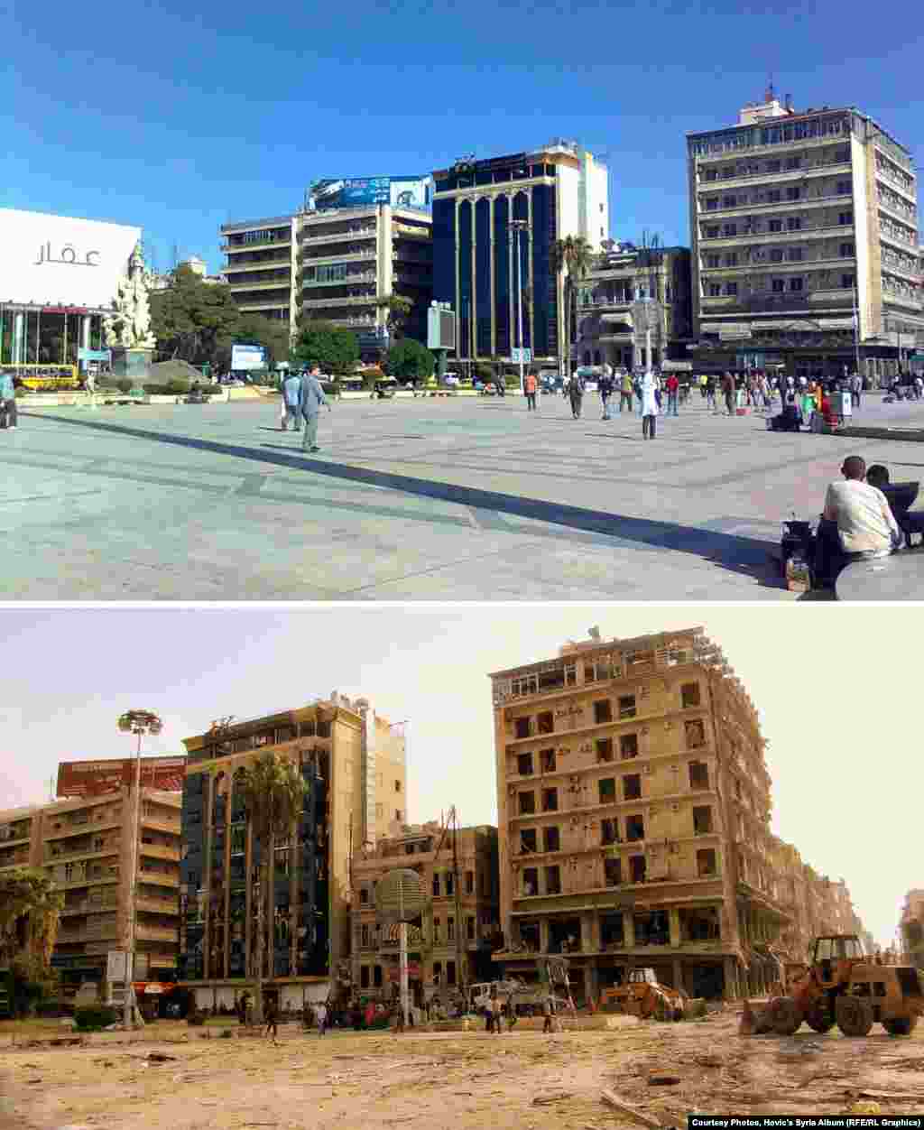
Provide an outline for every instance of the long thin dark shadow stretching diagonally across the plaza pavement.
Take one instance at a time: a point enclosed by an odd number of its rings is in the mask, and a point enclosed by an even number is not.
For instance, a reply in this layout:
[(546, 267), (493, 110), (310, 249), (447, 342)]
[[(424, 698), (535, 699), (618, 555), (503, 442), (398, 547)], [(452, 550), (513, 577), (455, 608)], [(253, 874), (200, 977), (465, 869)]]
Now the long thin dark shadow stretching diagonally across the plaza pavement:
[[(21, 415), (30, 415), (23, 412)], [(282, 454), (268, 451), (268, 447), (279, 447), (279, 444), (261, 443), (260, 447), (245, 447), (234, 443), (223, 443), (217, 440), (201, 440), (194, 436), (171, 435), (165, 432), (148, 432), (143, 428), (128, 427), (122, 424), (104, 424), (97, 420), (73, 419), (72, 417), (53, 416), (42, 412), (42, 419), (53, 419), (71, 427), (84, 427), (90, 431), (105, 432), (114, 435), (131, 436), (162, 443), (171, 446), (189, 447), (194, 451), (213, 452), (219, 455), (232, 455), (236, 459), (251, 460), (256, 463), (270, 463), (291, 470), (303, 470), (325, 478), (359, 483), (365, 486), (384, 487), (389, 490), (403, 492), (419, 497), (435, 498), (441, 502), (461, 506), (472, 506), (477, 510), (496, 511), (537, 522), (550, 522), (556, 525), (584, 530), (591, 533), (602, 533), (637, 546), (650, 546), (656, 549), (673, 549), (677, 553), (694, 554), (706, 560), (714, 562), (733, 573), (743, 573), (756, 577), (761, 584), (779, 588), (778, 579), (774, 577), (769, 551), (773, 542), (758, 538), (749, 538), (738, 533), (724, 533), (694, 525), (681, 525), (677, 522), (662, 522), (656, 519), (633, 518), (626, 514), (613, 514), (607, 511), (589, 510), (567, 503), (547, 502), (541, 498), (526, 498), (521, 495), (502, 494), (496, 490), (485, 490), (480, 487), (459, 486), (452, 483), (439, 483), (433, 479), (418, 479), (407, 475), (395, 475), (390, 471), (376, 471), (365, 467), (351, 467), (347, 463), (329, 462), (322, 451), (319, 455), (293, 453)], [(774, 579), (772, 581), (772, 577)], [(678, 598), (681, 594), (678, 593)]]

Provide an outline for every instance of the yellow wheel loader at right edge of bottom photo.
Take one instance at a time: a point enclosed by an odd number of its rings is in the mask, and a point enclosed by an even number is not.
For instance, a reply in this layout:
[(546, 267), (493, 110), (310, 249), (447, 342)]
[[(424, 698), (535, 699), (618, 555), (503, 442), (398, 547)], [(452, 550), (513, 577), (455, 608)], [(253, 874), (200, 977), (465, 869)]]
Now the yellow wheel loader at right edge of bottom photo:
[(788, 997), (767, 1006), (773, 1031), (791, 1036), (803, 1020), (816, 1032), (835, 1024), (845, 1036), (865, 1036), (881, 1024), (892, 1036), (908, 1036), (924, 1015), (924, 983), (913, 965), (880, 965), (863, 953), (854, 933), (816, 938), (807, 973)]

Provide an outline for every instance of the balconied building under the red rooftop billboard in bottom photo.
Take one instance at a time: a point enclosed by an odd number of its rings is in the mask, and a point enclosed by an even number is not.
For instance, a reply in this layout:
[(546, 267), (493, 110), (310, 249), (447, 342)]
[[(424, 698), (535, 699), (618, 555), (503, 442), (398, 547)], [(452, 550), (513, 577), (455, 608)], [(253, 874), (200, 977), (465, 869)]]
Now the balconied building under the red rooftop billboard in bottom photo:
[(136, 980), (176, 979), (180, 793), (142, 788), (137, 857), (134, 817), (130, 788), (0, 812), (0, 871), (44, 868), (64, 896), (51, 958), (64, 997), (84, 982), (104, 982), (110, 950), (134, 949)]

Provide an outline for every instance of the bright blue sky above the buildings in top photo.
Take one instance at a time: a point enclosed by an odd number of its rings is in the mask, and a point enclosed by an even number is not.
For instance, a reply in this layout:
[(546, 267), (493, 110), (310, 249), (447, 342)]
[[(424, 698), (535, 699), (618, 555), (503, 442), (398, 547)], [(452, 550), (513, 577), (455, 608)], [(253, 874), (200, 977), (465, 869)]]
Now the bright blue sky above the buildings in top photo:
[[(6, 15), (5, 15), (6, 11)], [(768, 72), (797, 107), (853, 104), (916, 155), (917, 0), (0, 0), (0, 203), (138, 224), (159, 269), (221, 266), (218, 226), (325, 176), (430, 172), (551, 137), (610, 165), (611, 235), (688, 241), (688, 131)], [(916, 38), (915, 38), (916, 34)]]

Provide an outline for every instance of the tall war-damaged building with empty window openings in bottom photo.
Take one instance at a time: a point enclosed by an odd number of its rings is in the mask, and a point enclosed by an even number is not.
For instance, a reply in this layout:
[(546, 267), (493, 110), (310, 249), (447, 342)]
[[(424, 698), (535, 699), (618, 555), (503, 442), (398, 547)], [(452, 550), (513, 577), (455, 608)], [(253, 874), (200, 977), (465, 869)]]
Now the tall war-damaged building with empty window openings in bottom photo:
[(652, 966), (731, 998), (804, 959), (781, 944), (802, 944), (812, 895), (781, 883), (757, 712), (700, 628), (567, 643), (490, 678), (506, 973), (566, 954), (585, 997)]

